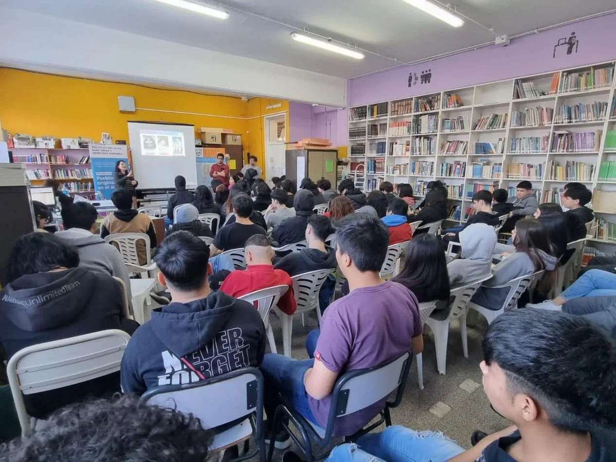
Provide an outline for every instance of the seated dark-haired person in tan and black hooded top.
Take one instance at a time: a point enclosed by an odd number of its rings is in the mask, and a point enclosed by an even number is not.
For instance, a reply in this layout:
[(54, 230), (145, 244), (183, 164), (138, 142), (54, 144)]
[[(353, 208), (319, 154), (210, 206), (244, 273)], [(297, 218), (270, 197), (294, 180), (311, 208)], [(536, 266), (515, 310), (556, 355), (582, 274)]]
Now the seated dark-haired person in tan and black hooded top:
[[(150, 238), (150, 248), (156, 247), (156, 233), (152, 219), (145, 213), (138, 213), (132, 208), (132, 196), (126, 189), (115, 190), (111, 194), (111, 202), (118, 209), (108, 214), (100, 225), (100, 237), (103, 239), (116, 233), (145, 233)], [(145, 241), (137, 241), (137, 257), (139, 264), (145, 265)]]

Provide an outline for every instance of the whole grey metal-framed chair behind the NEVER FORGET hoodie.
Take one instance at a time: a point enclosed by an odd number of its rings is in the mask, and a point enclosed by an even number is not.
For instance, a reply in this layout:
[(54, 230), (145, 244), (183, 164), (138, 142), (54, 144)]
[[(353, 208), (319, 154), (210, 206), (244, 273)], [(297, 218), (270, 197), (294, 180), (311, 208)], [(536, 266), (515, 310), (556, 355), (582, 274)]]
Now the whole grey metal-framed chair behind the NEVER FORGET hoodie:
[(221, 452), (254, 436), (256, 450), (234, 458), (233, 462), (248, 460), (257, 454), (264, 462), (263, 389), (261, 372), (247, 367), (196, 383), (156, 387), (142, 395), (139, 402), (191, 413), (206, 429), (240, 421), (225, 431), (216, 432), (210, 450)]

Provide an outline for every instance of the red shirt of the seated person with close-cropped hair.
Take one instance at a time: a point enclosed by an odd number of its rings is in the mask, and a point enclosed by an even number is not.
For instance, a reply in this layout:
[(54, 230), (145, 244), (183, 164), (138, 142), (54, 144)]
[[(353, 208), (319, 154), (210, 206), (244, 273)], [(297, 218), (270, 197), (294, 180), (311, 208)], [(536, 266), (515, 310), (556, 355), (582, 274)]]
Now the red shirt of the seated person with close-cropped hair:
[(293, 296), (293, 281), (283, 270), (274, 269), (274, 265), (249, 265), (246, 270), (235, 270), (225, 278), (221, 290), (238, 298), (256, 290), (283, 285), (289, 286), (289, 290), (280, 297), (278, 308), (285, 314), (293, 314), (298, 309)]

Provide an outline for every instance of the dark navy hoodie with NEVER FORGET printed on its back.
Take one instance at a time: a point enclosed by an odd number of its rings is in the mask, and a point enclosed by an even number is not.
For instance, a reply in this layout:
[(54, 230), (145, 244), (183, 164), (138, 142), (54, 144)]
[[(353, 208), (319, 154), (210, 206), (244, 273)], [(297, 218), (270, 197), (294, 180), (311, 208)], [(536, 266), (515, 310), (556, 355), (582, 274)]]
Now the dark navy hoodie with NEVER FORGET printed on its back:
[(188, 384), (245, 367), (265, 354), (265, 326), (252, 304), (221, 291), (152, 312), (128, 342), (121, 366), (124, 393)]

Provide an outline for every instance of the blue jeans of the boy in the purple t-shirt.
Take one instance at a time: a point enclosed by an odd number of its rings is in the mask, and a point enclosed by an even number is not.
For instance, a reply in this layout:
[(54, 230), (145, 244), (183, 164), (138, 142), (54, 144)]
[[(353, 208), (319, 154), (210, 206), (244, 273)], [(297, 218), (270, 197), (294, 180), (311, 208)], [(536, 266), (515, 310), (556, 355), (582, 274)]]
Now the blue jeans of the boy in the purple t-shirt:
[(305, 419), (318, 424), (310, 410), (304, 375), (314, 364), (312, 359), (296, 360), (274, 353), (267, 353), (261, 363), (265, 379), (264, 409), (270, 424), (274, 421), (276, 407), (280, 404), (278, 393)]

